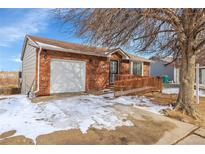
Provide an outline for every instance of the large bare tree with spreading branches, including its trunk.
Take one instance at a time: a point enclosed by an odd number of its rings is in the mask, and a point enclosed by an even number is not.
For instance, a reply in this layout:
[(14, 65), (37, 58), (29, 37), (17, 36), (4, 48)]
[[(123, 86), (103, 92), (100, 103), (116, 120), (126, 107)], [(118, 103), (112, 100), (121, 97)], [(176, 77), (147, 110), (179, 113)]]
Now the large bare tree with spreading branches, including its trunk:
[(195, 63), (205, 53), (205, 9), (59, 9), (73, 32), (106, 47), (180, 58), (176, 109), (196, 117)]

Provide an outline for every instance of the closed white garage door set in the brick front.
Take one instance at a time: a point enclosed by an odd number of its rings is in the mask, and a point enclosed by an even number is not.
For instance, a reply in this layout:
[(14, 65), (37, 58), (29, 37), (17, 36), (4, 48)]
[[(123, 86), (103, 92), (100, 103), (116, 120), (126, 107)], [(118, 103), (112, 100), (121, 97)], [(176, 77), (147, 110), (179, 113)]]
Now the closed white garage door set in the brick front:
[(74, 60), (51, 60), (50, 93), (85, 91), (86, 63)]

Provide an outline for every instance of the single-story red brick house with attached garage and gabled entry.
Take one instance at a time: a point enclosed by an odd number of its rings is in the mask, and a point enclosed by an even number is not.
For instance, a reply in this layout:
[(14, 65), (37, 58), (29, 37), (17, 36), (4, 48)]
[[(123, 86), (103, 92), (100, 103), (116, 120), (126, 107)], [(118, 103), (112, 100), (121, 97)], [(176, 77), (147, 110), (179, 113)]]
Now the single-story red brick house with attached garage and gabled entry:
[(149, 76), (150, 60), (120, 48), (90, 47), (27, 35), (22, 55), (22, 93), (37, 96), (101, 90), (118, 74)]

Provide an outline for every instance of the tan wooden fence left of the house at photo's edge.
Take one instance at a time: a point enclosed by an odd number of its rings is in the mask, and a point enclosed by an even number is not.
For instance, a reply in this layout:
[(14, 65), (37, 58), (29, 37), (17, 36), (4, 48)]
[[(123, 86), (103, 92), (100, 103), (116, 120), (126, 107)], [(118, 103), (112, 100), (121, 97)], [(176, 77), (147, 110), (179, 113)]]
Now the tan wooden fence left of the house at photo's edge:
[(0, 87), (19, 87), (19, 72), (0, 72)]

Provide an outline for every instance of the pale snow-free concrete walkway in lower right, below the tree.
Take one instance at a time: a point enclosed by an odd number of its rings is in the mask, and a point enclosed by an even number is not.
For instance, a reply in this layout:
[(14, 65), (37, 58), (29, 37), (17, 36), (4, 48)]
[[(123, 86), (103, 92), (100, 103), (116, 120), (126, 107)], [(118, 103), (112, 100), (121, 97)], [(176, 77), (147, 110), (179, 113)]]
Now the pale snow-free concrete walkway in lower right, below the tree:
[[(160, 139), (154, 144), (205, 144), (205, 130), (198, 126), (184, 123), (175, 119), (168, 118), (163, 115), (151, 113), (139, 109), (138, 107), (115, 106), (121, 113), (131, 114), (132, 117), (138, 120), (152, 119), (152, 121), (170, 123), (174, 126), (173, 129), (165, 131)], [(162, 127), (161, 125), (158, 126)], [(143, 131), (143, 130), (142, 130)], [(155, 133), (153, 131), (153, 133)]]

